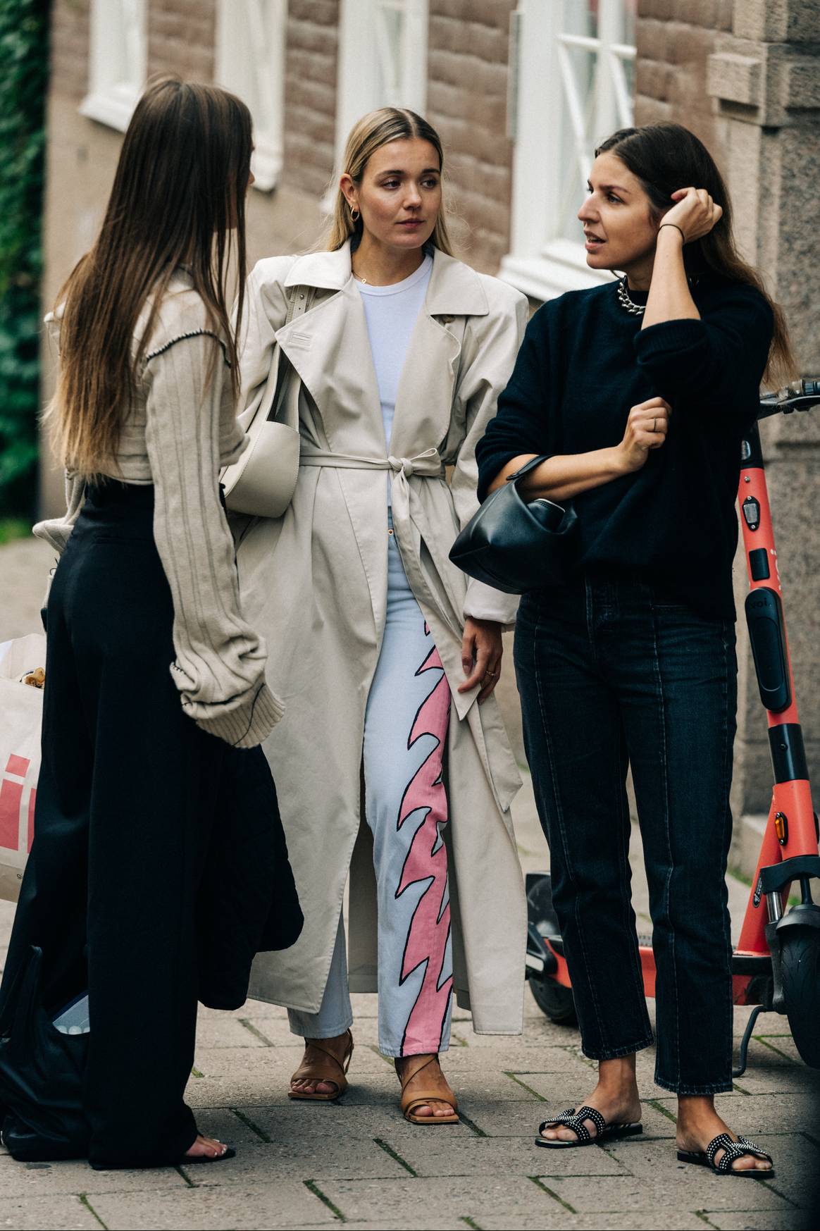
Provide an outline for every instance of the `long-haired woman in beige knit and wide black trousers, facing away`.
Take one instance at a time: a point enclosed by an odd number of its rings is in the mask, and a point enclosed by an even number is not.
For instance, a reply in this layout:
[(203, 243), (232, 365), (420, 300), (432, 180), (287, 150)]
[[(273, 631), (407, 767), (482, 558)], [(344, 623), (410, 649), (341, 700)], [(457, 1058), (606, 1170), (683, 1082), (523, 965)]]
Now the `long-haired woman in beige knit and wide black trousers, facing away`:
[(49, 1142), (38, 1108), (4, 1085), (18, 1157), (233, 1153), (197, 1134), (183, 1102), (197, 998), (241, 1004), (254, 953), (300, 928), (257, 747), (282, 707), (240, 612), (218, 490), (245, 443), (225, 283), (231, 247), (244, 272), (250, 155), (238, 98), (154, 84), (100, 236), (60, 293), (50, 420), (69, 512), (36, 527), (62, 558), (36, 838), (0, 1007), (14, 1017), (32, 945), (49, 1016), (87, 988), (89, 1137)]

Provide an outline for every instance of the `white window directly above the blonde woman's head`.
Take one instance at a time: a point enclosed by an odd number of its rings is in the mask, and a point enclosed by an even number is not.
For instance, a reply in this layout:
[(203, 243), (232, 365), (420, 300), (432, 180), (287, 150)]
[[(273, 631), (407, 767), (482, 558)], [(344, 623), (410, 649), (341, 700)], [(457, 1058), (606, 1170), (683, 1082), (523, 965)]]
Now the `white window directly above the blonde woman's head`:
[(336, 150), (374, 107), (424, 113), (427, 98), (427, 0), (342, 0)]

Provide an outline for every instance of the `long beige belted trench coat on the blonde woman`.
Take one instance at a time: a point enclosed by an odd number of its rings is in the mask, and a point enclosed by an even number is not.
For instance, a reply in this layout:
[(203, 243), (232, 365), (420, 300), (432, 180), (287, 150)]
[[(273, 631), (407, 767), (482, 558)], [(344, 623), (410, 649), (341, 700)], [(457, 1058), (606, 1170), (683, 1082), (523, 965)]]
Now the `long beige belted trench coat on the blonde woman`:
[[(307, 287), (315, 288), (309, 310), (286, 326), (287, 294)], [(265, 751), (305, 917), (297, 944), (257, 956), (255, 998), (319, 1008), (348, 869), (350, 985), (376, 991), (361, 761), (385, 619), (390, 474), (396, 543), (453, 698), (446, 758), (453, 984), (479, 1033), (521, 1032), (526, 904), (510, 820), (521, 780), (495, 697), (479, 707), (478, 689), (457, 692), (464, 614), (508, 624), (516, 599), (468, 586), (448, 551), (478, 507), (475, 443), (512, 371), (526, 315), (518, 292), (436, 251), (385, 443), (350, 247), (271, 257), (249, 279), (244, 405), (261, 398), (275, 342), (303, 385), (293, 502), (275, 521), (235, 524), (243, 611), (267, 641), (268, 683), (286, 705)], [(451, 484), (444, 464), (454, 468)]]

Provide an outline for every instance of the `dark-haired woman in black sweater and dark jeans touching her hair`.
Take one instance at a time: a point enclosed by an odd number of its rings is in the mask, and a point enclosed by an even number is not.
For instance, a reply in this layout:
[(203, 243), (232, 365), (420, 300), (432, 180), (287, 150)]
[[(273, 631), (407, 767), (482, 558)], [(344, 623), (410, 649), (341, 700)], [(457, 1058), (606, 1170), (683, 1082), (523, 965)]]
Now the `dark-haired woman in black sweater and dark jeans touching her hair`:
[(714, 1094), (731, 1089), (740, 444), (788, 341), (735, 250), (714, 161), (686, 128), (616, 133), (589, 190), (587, 263), (623, 277), (536, 313), (478, 448), (480, 495), (547, 454), (527, 497), (571, 499), (580, 521), (573, 580), (539, 590), (533, 577), (516, 629), (555, 910), (584, 1050), (598, 1061), (595, 1089), (545, 1121), (538, 1145), (585, 1145), (640, 1119), (635, 1053), (653, 1034), (629, 895), (629, 764), (657, 965), (655, 1080), (677, 1093), (678, 1149), (725, 1174), (771, 1174)]

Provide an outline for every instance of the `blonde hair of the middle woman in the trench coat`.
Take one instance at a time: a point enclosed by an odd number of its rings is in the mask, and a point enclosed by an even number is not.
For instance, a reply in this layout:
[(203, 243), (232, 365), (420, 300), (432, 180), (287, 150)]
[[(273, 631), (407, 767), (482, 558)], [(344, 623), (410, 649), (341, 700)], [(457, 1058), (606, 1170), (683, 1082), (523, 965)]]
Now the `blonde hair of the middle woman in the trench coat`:
[[(415, 111), (406, 107), (379, 107), (378, 111), (368, 111), (362, 116), (350, 130), (347, 144), (345, 145), (345, 158), (342, 172), (347, 172), (353, 183), (361, 183), (364, 167), (373, 154), (389, 142), (408, 140), (420, 137), (421, 140), (430, 142), (438, 155), (438, 170), (443, 174), (444, 153), (441, 145), (441, 137), (426, 119), (417, 116)], [(336, 199), (328, 233), (326, 250), (335, 252), (337, 247), (346, 244), (351, 236), (361, 236), (361, 217), (353, 222), (350, 217), (350, 206), (345, 199), (345, 193), (336, 188)], [(447, 207), (442, 197), (441, 208), (436, 219), (436, 228), (430, 236), (430, 243), (441, 249), (447, 256), (453, 255), (453, 247), (447, 234)]]

